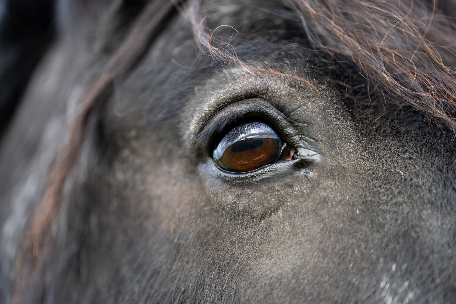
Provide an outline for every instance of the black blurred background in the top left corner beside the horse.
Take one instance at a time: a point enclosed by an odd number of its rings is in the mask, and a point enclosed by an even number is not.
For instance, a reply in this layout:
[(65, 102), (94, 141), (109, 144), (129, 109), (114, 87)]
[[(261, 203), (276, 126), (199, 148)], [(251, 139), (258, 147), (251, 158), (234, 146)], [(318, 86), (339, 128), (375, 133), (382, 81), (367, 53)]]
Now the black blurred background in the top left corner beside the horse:
[(0, 138), (55, 34), (53, 0), (0, 0)]

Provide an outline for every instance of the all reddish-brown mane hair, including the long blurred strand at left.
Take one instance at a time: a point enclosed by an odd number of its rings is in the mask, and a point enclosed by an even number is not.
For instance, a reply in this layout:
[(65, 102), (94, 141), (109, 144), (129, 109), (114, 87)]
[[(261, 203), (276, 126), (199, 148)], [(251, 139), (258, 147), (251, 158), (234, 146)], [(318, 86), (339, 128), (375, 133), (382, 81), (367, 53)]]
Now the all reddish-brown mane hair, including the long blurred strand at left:
[[(247, 72), (275, 73), (252, 67), (230, 52), (229, 42), (215, 40), (205, 26), (199, 0), (189, 0), (192, 28), (201, 54)], [(326, 52), (358, 77), (368, 98), (399, 106), (410, 105), (427, 117), (456, 130), (456, 27), (435, 5), (410, 0), (285, 0), (302, 21), (316, 51)], [(63, 149), (47, 175), (47, 188), (31, 218), (18, 254), (18, 281), (13, 303), (19, 303), (33, 273), (46, 261), (51, 227), (60, 211), (62, 189), (75, 164), (89, 114), (115, 77), (133, 67), (145, 52), (163, 18), (174, 7), (151, 1), (109, 62), (80, 99), (80, 111), (67, 131)], [(354, 68), (353, 68), (354, 67)], [(293, 77), (279, 73), (284, 77)], [(302, 79), (301, 79), (302, 80)], [(306, 81), (313, 86), (310, 82)], [(352, 84), (351, 84), (352, 85)], [(314, 87), (315, 88), (315, 87)], [(376, 97), (375, 99), (373, 97)], [(378, 98), (380, 97), (380, 98)]]

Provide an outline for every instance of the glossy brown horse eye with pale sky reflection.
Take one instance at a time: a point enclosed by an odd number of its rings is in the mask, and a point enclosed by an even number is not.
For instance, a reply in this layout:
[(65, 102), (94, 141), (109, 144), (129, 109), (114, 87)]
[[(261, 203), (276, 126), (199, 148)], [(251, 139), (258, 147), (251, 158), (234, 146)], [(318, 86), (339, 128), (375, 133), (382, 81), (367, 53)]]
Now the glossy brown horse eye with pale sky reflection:
[(282, 143), (269, 125), (261, 122), (241, 124), (231, 129), (214, 149), (218, 167), (229, 172), (245, 173), (278, 160), (291, 160), (296, 150)]

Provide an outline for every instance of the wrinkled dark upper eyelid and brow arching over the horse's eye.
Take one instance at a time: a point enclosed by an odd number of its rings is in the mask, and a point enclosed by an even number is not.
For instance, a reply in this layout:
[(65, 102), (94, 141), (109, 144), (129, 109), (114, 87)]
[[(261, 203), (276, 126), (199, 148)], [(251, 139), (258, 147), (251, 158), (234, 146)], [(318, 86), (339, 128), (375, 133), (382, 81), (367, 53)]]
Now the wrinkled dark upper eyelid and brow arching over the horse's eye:
[[(276, 86), (282, 88), (288, 87), (287, 83), (280, 82), (274, 77), (268, 78), (268, 81), (264, 79), (255, 78), (251, 82), (221, 82), (221, 87), (214, 92), (212, 86), (198, 88), (186, 108), (182, 113), (185, 113), (188, 119), (182, 120), (182, 133), (181, 139), (183, 140), (186, 147), (190, 148), (189, 153), (199, 158), (202, 153), (207, 154), (208, 147), (207, 141), (212, 138), (212, 134), (216, 131), (222, 131), (227, 124), (230, 124), (233, 119), (242, 117), (246, 114), (246, 111), (236, 111), (231, 116), (229, 114), (223, 114), (228, 108), (238, 103), (254, 103), (259, 108), (266, 109), (264, 118), (271, 123), (283, 139), (290, 139), (290, 144), (301, 142), (302, 140), (307, 141), (305, 143), (307, 148), (311, 148), (316, 140), (309, 137), (310, 134), (298, 134), (295, 132), (297, 129), (306, 129), (309, 124), (307, 122), (299, 120), (292, 120), (287, 116), (286, 113), (294, 112), (294, 109), (290, 108), (284, 99), (283, 90), (275, 90)], [(287, 92), (295, 92), (293, 87)], [(293, 93), (295, 94), (295, 93)], [(259, 96), (261, 95), (261, 96)], [(295, 94), (295, 98), (302, 98)], [(316, 96), (306, 97), (307, 102), (301, 103), (302, 107), (306, 107), (306, 103), (311, 103), (313, 98)], [(201, 103), (201, 100), (205, 102)], [(256, 112), (252, 109), (251, 113)], [(190, 113), (190, 115), (188, 115)], [(220, 115), (220, 114), (223, 115)], [(214, 119), (220, 119), (218, 124), (214, 126)], [(310, 121), (309, 121), (310, 122)], [(291, 131), (291, 132), (288, 132)], [(288, 136), (290, 135), (290, 137)], [(204, 151), (202, 151), (204, 149)]]

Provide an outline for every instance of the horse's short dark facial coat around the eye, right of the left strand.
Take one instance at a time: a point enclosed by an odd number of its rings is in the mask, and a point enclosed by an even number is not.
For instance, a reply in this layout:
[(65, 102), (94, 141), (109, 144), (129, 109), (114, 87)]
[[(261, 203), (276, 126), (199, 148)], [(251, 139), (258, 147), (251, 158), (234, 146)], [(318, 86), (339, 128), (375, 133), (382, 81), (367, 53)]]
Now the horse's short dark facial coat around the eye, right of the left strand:
[[(282, 75), (196, 58), (189, 21), (172, 18), (89, 119), (49, 262), (26, 300), (453, 302), (454, 134), (414, 109), (347, 98), (334, 82), (340, 67), (310, 51), (290, 10), (243, 2), (207, 12), (214, 27), (240, 32), (239, 58)], [(66, 42), (54, 50), (69, 60)], [(258, 118), (298, 158), (220, 170), (217, 135)]]

